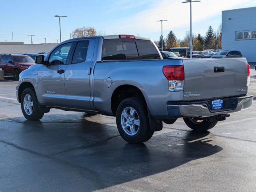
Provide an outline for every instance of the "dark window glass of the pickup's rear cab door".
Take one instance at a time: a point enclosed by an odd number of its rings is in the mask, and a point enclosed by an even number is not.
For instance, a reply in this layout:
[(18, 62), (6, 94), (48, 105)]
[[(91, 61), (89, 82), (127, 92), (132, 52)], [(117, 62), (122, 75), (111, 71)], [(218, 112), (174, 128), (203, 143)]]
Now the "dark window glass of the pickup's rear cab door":
[(80, 41), (77, 43), (72, 63), (80, 63), (86, 60), (88, 46), (89, 41)]

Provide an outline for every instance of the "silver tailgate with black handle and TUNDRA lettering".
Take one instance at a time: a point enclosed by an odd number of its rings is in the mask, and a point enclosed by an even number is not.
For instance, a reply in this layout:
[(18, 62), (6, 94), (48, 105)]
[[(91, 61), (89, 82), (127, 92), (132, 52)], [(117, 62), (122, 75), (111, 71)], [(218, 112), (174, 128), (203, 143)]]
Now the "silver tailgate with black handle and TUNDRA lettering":
[(247, 93), (245, 58), (188, 59), (184, 64), (184, 100), (239, 96)]

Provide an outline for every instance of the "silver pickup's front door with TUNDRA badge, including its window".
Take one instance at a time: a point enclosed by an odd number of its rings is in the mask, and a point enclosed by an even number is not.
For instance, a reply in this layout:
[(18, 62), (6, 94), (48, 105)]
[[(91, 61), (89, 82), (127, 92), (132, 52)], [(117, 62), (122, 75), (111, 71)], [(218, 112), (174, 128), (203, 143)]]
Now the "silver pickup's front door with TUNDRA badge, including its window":
[(38, 101), (45, 106), (66, 106), (65, 70), (74, 42), (62, 44), (53, 50), (48, 65), (38, 70)]

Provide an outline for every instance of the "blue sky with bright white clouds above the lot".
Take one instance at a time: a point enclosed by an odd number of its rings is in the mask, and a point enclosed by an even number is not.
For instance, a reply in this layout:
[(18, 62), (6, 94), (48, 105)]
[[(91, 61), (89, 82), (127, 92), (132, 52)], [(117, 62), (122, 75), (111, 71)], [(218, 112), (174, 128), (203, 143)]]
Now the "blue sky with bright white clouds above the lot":
[[(59, 39), (58, 18), (61, 18), (62, 41), (70, 38), (77, 27), (93, 26), (97, 32), (110, 34), (139, 34), (158, 40), (160, 22), (164, 22), (164, 37), (170, 30), (182, 39), (189, 30), (189, 4), (184, 0), (8, 0), (0, 12), (0, 41), (5, 39), (34, 44)], [(204, 35), (208, 26), (217, 29), (221, 11), (256, 6), (255, 0), (202, 0), (192, 5), (193, 32)]]

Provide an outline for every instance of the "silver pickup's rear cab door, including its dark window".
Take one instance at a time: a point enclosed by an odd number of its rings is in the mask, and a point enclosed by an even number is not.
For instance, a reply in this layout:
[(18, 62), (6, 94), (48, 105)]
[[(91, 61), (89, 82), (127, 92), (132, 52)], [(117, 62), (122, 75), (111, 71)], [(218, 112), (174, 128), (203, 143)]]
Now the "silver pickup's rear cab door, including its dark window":
[(95, 39), (77, 40), (66, 68), (66, 102), (69, 108), (91, 110), (90, 74)]

